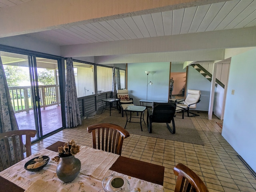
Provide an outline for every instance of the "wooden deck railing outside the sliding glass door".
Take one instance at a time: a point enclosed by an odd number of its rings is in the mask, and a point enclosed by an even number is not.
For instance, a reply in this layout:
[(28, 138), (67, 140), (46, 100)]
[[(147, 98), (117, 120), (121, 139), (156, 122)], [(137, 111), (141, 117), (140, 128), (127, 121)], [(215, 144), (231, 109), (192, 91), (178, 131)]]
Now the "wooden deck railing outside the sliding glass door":
[[(60, 105), (60, 86), (59, 85), (39, 85), (40, 107), (46, 108), (52, 105)], [(9, 87), (12, 106), (15, 113), (33, 109), (31, 87), (15, 86)]]

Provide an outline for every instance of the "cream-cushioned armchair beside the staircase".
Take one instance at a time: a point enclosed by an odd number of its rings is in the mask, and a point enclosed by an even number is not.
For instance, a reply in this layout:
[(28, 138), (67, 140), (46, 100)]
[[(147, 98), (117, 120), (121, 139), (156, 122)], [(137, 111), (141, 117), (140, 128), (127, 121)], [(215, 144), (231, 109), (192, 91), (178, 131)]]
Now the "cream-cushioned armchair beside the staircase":
[[(198, 114), (194, 114), (190, 112), (190, 109), (195, 109), (196, 104), (200, 102), (200, 97), (201, 97), (201, 91), (200, 90), (192, 90), (188, 89), (188, 96), (186, 97), (185, 100), (175, 100), (176, 106), (179, 108), (184, 109), (188, 113), (188, 117), (193, 117), (193, 116), (199, 116)], [(192, 114), (192, 115), (190, 115)]]

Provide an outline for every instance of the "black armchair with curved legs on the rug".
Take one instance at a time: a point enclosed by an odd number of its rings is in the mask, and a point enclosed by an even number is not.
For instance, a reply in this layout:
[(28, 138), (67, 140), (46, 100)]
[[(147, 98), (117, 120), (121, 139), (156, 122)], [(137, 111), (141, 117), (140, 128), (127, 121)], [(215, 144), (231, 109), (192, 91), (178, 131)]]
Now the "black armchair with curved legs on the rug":
[[(176, 111), (176, 103), (156, 103), (153, 102), (152, 109), (148, 108), (147, 126), (148, 132), (152, 133), (152, 123), (166, 123), (168, 130), (175, 134), (174, 115)], [(172, 122), (172, 129), (169, 123)]]

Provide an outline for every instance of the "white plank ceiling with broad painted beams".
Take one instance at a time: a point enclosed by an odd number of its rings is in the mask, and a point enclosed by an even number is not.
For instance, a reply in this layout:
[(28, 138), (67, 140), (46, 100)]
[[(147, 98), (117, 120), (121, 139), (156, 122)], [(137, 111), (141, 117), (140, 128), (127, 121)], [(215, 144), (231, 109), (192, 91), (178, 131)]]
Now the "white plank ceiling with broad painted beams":
[[(43, 5), (48, 1), (0, 0), (0, 13), (19, 7), (24, 9), (36, 2)], [(204, 60), (207, 57), (202, 55), (209, 54), (209, 60), (214, 60), (212, 57), (218, 55), (218, 60), (220, 57), (224, 59), (225, 48), (256, 46), (255, 38), (251, 41), (246, 39), (255, 37), (256, 0), (183, 2), (186, 3), (106, 17), (96, 16), (83, 21), (70, 20), (66, 24), (49, 24), (41, 29), (14, 29), (13, 33), (4, 31), (1, 37), (18, 34), (60, 46), (62, 56), (96, 56), (95, 60), (99, 63), (136, 62), (145, 57), (148, 58), (145, 62), (149, 62), (149, 55), (159, 58), (160, 62), (167, 61), (169, 57), (182, 61), (185, 54), (183, 61), (191, 60), (187, 56), (190, 54), (198, 54), (198, 58)], [(238, 39), (241, 42), (237, 42)], [(207, 44), (207, 47), (200, 44)]]

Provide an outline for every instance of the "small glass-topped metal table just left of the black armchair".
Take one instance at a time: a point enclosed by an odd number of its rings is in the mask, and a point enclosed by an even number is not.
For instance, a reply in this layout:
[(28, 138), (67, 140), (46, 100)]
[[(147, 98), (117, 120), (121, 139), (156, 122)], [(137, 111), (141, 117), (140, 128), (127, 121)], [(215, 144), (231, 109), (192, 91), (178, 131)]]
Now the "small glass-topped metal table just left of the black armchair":
[[(124, 110), (124, 112), (126, 114), (126, 124), (125, 124), (124, 128), (126, 128), (127, 122), (130, 122), (130, 123), (140, 123), (141, 131), (143, 131), (141, 123), (142, 122), (145, 123), (145, 121), (144, 121), (144, 111), (146, 110), (146, 107), (145, 106), (130, 105), (130, 106), (127, 106), (126, 108), (124, 108), (123, 110)], [(130, 118), (128, 118), (127, 112), (130, 112)], [(140, 117), (132, 116), (132, 112), (137, 112), (137, 114), (140, 112)], [(140, 122), (133, 122), (133, 121), (131, 121), (132, 118), (139, 118)]]

